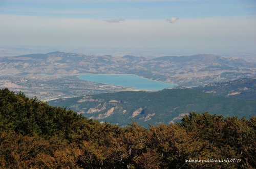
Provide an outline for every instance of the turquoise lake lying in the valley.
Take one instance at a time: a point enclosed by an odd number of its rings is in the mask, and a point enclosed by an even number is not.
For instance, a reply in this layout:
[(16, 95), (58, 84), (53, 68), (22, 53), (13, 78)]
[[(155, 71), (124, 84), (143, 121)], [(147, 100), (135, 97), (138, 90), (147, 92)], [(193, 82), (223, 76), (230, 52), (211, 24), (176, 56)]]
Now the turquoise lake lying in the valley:
[(80, 75), (79, 78), (108, 85), (133, 87), (135, 90), (163, 90), (165, 88), (173, 88), (176, 86), (160, 81), (148, 80), (135, 75), (83, 74)]

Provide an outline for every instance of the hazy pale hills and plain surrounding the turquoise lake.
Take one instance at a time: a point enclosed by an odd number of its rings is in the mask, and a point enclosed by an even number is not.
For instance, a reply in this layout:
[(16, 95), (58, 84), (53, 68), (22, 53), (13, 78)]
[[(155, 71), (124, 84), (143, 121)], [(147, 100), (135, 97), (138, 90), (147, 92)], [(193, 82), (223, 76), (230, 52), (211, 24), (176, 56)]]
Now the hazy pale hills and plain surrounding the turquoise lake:
[(102, 83), (81, 80), (79, 74), (133, 74), (190, 88), (256, 77), (255, 72), (253, 62), (210, 54), (148, 59), (132, 55), (114, 57), (51, 52), (0, 57), (0, 88), (51, 100), (131, 90), (115, 85), (102, 88)]

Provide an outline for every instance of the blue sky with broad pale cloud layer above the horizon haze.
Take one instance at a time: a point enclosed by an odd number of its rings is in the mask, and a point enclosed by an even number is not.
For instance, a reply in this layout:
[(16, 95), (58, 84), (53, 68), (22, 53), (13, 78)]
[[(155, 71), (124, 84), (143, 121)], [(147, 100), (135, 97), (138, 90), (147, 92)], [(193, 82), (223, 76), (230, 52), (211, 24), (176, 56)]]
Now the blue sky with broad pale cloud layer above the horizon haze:
[(0, 47), (256, 52), (255, 0), (0, 0)]

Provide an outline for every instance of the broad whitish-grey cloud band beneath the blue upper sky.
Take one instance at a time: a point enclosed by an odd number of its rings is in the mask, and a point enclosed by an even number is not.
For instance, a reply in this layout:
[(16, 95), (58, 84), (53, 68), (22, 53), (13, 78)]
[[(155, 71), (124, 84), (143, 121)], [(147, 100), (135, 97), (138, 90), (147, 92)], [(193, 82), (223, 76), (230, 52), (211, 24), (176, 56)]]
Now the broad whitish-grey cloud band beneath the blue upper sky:
[(162, 19), (126, 19), (122, 24), (110, 24), (103, 19), (17, 15), (0, 15), (0, 21), (0, 45), (116, 48), (256, 46), (255, 16), (182, 18), (182, 22), (175, 24)]

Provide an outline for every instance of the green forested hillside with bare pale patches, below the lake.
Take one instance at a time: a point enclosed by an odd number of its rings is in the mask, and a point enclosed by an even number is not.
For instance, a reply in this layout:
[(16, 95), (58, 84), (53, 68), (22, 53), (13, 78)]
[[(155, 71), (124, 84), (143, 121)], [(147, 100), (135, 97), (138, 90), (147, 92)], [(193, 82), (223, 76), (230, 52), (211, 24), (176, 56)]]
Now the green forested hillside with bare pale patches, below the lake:
[(242, 100), (225, 96), (172, 89), (158, 92), (116, 92), (49, 101), (50, 105), (67, 106), (87, 118), (125, 126), (131, 119), (143, 127), (148, 124), (180, 122), (190, 111), (243, 116), (249, 119), (256, 114), (256, 100)]

